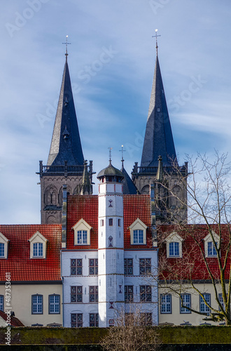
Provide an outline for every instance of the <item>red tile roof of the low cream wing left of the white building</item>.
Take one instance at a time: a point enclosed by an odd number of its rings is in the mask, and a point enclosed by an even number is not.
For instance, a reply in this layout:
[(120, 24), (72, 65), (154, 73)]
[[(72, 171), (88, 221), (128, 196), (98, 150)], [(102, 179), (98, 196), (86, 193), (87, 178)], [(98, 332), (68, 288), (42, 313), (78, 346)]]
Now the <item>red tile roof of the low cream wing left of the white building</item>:
[[(48, 239), (46, 258), (30, 258), (28, 239), (40, 232)], [(0, 232), (9, 239), (8, 258), (0, 259), (0, 281), (11, 282), (61, 281), (60, 249), (61, 225), (0, 225)]]

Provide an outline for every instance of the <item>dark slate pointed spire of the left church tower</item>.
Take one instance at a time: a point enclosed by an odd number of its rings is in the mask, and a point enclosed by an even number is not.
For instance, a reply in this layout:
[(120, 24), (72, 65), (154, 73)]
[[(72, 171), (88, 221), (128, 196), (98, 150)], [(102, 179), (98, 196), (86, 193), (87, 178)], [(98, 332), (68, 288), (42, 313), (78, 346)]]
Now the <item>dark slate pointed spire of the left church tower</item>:
[(67, 55), (48, 156), (48, 166), (64, 165), (64, 161), (72, 166), (83, 165), (83, 150), (73, 102)]

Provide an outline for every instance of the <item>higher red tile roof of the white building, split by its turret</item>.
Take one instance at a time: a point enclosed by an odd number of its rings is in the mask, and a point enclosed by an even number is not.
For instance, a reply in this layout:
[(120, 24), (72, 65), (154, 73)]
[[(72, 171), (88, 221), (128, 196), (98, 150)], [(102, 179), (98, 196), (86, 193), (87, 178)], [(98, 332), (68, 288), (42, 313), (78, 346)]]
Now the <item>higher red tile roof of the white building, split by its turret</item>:
[[(151, 202), (149, 195), (123, 195), (125, 249), (151, 248)], [(74, 234), (71, 229), (83, 218), (91, 227), (90, 246), (74, 246)], [(147, 228), (147, 245), (130, 245), (128, 227), (139, 218)], [(69, 195), (67, 200), (66, 249), (98, 249), (98, 196)]]

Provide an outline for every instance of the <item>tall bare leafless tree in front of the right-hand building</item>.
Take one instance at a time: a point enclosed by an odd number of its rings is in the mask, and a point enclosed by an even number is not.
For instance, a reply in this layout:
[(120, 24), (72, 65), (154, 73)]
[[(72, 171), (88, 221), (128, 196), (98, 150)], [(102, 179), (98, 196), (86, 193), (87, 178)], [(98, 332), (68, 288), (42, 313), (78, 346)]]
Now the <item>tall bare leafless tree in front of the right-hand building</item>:
[[(174, 225), (160, 225), (158, 239), (160, 244), (159, 284), (181, 298), (181, 306), (197, 314), (208, 315), (214, 322), (225, 321), (231, 325), (231, 164), (227, 154), (215, 152), (213, 161), (206, 154), (197, 158), (188, 157), (188, 185), (179, 167), (173, 164), (178, 184), (188, 193), (188, 201), (179, 197), (172, 187), (163, 181), (161, 187), (169, 197), (176, 199), (176, 208), (167, 208), (168, 218)], [(179, 213), (188, 207), (188, 223), (183, 223)], [(178, 233), (182, 241), (182, 258), (167, 258), (166, 238), (172, 232)], [(204, 237), (211, 242), (208, 254)], [(211, 283), (216, 304), (204, 298), (204, 291), (196, 282)], [(194, 291), (199, 294), (210, 312), (201, 312), (193, 306), (183, 304), (182, 293)], [(219, 295), (220, 294), (220, 295)], [(222, 296), (222, 298), (221, 298)]]

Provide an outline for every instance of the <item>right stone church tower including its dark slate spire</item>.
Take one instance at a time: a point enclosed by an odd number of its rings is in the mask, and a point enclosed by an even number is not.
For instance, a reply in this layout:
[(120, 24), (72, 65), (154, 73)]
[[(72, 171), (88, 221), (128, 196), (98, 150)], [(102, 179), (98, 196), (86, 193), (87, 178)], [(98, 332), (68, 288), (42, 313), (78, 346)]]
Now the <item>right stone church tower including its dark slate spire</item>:
[[(172, 223), (176, 220), (187, 220), (188, 165), (186, 163), (180, 167), (176, 159), (172, 128), (160, 72), (158, 46), (156, 48), (155, 72), (141, 166), (138, 166), (138, 162), (135, 162), (132, 170), (132, 180), (140, 194), (149, 194), (152, 185), (155, 192), (156, 222)], [(170, 190), (170, 193), (176, 194), (180, 200), (178, 201), (176, 197), (170, 196), (168, 190)]]

